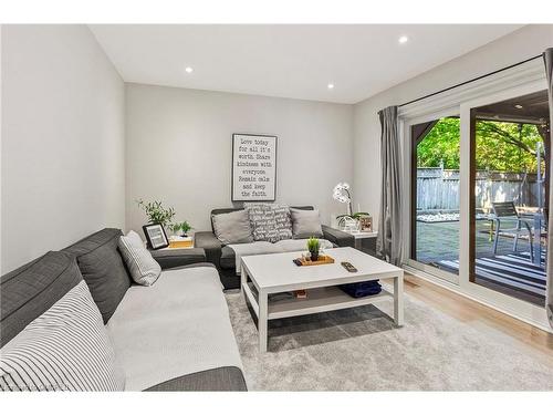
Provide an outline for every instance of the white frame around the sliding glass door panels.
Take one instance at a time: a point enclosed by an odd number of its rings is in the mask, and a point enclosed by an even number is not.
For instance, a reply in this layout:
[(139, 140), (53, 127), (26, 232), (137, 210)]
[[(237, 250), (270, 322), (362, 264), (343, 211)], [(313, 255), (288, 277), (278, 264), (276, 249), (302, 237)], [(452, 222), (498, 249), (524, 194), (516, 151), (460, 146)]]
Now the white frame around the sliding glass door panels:
[[(491, 75), (486, 79), (462, 85), (447, 91), (430, 98), (399, 107), (398, 132), (400, 134), (400, 151), (403, 156), (401, 191), (410, 195), (411, 179), (411, 143), (410, 125), (440, 118), (442, 116), (460, 115), (460, 183), (459, 183), (459, 276), (457, 281), (449, 280), (448, 277), (455, 274), (436, 276), (436, 269), (428, 270), (426, 267), (414, 267), (414, 261), (404, 259), (405, 268), (437, 286), (455, 291), (463, 297), (472, 299), (492, 309), (507, 313), (513, 318), (535, 325), (542, 330), (553, 333), (545, 308), (531, 304), (523, 300), (518, 300), (507, 294), (480, 287), (469, 281), (469, 172), (470, 172), (470, 108), (486, 105), (513, 96), (520, 96), (532, 92), (546, 90), (545, 71), (541, 60), (533, 60), (525, 64), (512, 68), (511, 70)], [(409, 198), (408, 198), (409, 199)], [(410, 199), (403, 204), (403, 229), (404, 229), (404, 252), (410, 252)], [(463, 225), (465, 224), (465, 225)], [(417, 263), (415, 263), (417, 266)], [(438, 270), (439, 271), (439, 270)], [(430, 273), (431, 272), (431, 273)], [(457, 277), (457, 276), (456, 276)]]

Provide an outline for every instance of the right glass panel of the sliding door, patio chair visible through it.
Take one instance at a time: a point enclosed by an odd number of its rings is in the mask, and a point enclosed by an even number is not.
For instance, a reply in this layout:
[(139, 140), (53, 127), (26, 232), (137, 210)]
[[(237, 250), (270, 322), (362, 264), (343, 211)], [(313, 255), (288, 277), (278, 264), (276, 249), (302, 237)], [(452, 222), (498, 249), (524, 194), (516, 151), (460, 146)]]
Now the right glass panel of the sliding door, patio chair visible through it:
[(470, 110), (469, 280), (545, 299), (550, 114), (539, 91)]

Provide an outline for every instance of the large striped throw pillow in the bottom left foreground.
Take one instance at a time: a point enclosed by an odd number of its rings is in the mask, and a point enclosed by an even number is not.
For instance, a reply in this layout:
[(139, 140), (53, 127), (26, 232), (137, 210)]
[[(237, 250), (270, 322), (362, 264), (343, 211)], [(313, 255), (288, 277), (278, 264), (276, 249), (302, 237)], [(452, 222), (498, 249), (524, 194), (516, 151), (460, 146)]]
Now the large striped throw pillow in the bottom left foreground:
[(2, 391), (123, 391), (124, 384), (84, 281), (0, 349)]

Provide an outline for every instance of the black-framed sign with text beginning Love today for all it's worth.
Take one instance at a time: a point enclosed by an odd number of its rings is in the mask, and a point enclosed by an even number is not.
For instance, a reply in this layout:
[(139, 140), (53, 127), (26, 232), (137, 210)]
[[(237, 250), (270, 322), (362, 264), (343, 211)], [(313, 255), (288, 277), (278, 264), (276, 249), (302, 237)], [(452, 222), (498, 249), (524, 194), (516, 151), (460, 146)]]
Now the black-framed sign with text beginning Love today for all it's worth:
[(276, 137), (232, 135), (232, 201), (274, 200)]

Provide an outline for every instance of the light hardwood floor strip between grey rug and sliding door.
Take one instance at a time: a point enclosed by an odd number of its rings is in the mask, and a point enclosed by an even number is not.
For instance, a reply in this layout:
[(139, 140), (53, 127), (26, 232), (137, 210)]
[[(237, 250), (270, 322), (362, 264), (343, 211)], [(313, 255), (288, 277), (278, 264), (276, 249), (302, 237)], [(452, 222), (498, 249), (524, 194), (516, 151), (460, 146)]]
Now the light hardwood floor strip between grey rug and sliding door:
[(405, 292), (477, 330), (507, 334), (553, 366), (553, 334), (408, 273)]

